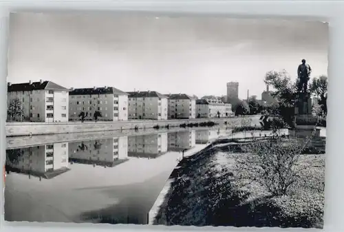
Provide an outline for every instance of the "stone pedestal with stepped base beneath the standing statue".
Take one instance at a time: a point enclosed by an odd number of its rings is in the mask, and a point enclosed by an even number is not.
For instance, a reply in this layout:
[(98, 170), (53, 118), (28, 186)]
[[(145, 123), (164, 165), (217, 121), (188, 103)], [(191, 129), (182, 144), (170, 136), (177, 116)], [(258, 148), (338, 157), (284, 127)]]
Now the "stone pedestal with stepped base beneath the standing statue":
[[(308, 93), (299, 93), (295, 100), (294, 129), (289, 129), (290, 136), (305, 138), (312, 136), (316, 118), (312, 115), (312, 99)], [(320, 136), (320, 129), (316, 129), (314, 137)]]

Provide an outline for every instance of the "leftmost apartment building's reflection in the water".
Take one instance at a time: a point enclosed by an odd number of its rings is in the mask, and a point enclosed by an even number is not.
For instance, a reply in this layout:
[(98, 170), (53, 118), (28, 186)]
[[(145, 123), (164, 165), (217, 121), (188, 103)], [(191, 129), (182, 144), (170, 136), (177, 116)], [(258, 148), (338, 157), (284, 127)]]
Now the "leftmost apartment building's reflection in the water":
[(54, 143), (6, 151), (6, 170), (54, 178), (69, 171), (68, 143)]

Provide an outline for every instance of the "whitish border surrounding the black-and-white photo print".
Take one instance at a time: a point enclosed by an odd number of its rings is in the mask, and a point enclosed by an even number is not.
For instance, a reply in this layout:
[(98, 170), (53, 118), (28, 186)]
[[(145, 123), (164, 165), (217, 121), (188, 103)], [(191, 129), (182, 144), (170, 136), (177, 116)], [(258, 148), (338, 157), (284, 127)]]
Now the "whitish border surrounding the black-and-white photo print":
[[(99, 10), (99, 11), (131, 11), (154, 13), (155, 15), (171, 14), (202, 14), (228, 17), (283, 17), (292, 19), (308, 19), (328, 21), (330, 23), (330, 50), (329, 50), (329, 94), (328, 94), (328, 123), (327, 123), (327, 152), (325, 170), (325, 231), (344, 231), (344, 181), (343, 147), (344, 120), (342, 120), (340, 99), (343, 98), (344, 87), (344, 1), (5, 1), (0, 2), (0, 53), (1, 53), (1, 82), (0, 91), (0, 148), (1, 161), (5, 158), (5, 120), (6, 120), (6, 76), (7, 76), (7, 36), (9, 12), (19, 11), (53, 11), (53, 10)], [(338, 96), (338, 98), (335, 98)], [(336, 103), (337, 99), (337, 103)], [(337, 107), (335, 107), (337, 106)], [(2, 165), (1, 165), (2, 173)], [(1, 177), (2, 178), (2, 177)], [(1, 188), (3, 182), (1, 181)], [(3, 198), (1, 198), (3, 204)], [(94, 231), (120, 229), (131, 231), (178, 230), (195, 231), (228, 230), (224, 227), (182, 227), (182, 226), (134, 226), (134, 225), (107, 225), (107, 224), (61, 224), (61, 223), (9, 223), (3, 220), (1, 209), (1, 231)], [(20, 226), (18, 226), (20, 225)], [(30, 226), (30, 227), (29, 227)], [(60, 228), (62, 227), (62, 228)], [(259, 229), (230, 228), (230, 231), (256, 231)], [(280, 229), (264, 230), (279, 231)], [(284, 231), (301, 229), (285, 229)], [(312, 229), (311, 229), (312, 230)], [(312, 230), (313, 231), (313, 230)]]

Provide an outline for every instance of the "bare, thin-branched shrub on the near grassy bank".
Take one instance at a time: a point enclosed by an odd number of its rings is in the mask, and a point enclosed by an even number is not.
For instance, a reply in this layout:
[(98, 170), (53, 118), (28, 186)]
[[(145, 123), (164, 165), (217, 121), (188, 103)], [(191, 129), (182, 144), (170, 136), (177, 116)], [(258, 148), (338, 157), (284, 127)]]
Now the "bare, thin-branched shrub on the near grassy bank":
[(299, 161), (312, 136), (303, 145), (296, 139), (283, 138), (279, 131), (266, 140), (253, 138), (252, 143), (241, 146), (244, 154), (235, 156), (236, 184), (244, 187), (256, 182), (272, 196), (289, 195), (292, 187), (303, 181), (300, 174), (311, 167), (299, 165)]

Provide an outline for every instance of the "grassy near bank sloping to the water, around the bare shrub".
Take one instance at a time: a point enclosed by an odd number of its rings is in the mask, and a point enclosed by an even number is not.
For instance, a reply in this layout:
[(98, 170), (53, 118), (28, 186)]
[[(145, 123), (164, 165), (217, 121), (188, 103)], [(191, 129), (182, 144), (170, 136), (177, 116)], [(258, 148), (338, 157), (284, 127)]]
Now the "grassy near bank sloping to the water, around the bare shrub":
[(301, 173), (305, 182), (292, 196), (275, 197), (254, 182), (245, 188), (235, 184), (241, 143), (221, 138), (182, 160), (166, 182), (160, 207), (149, 212), (150, 224), (322, 228), (325, 155), (302, 155), (298, 165), (310, 165)]

